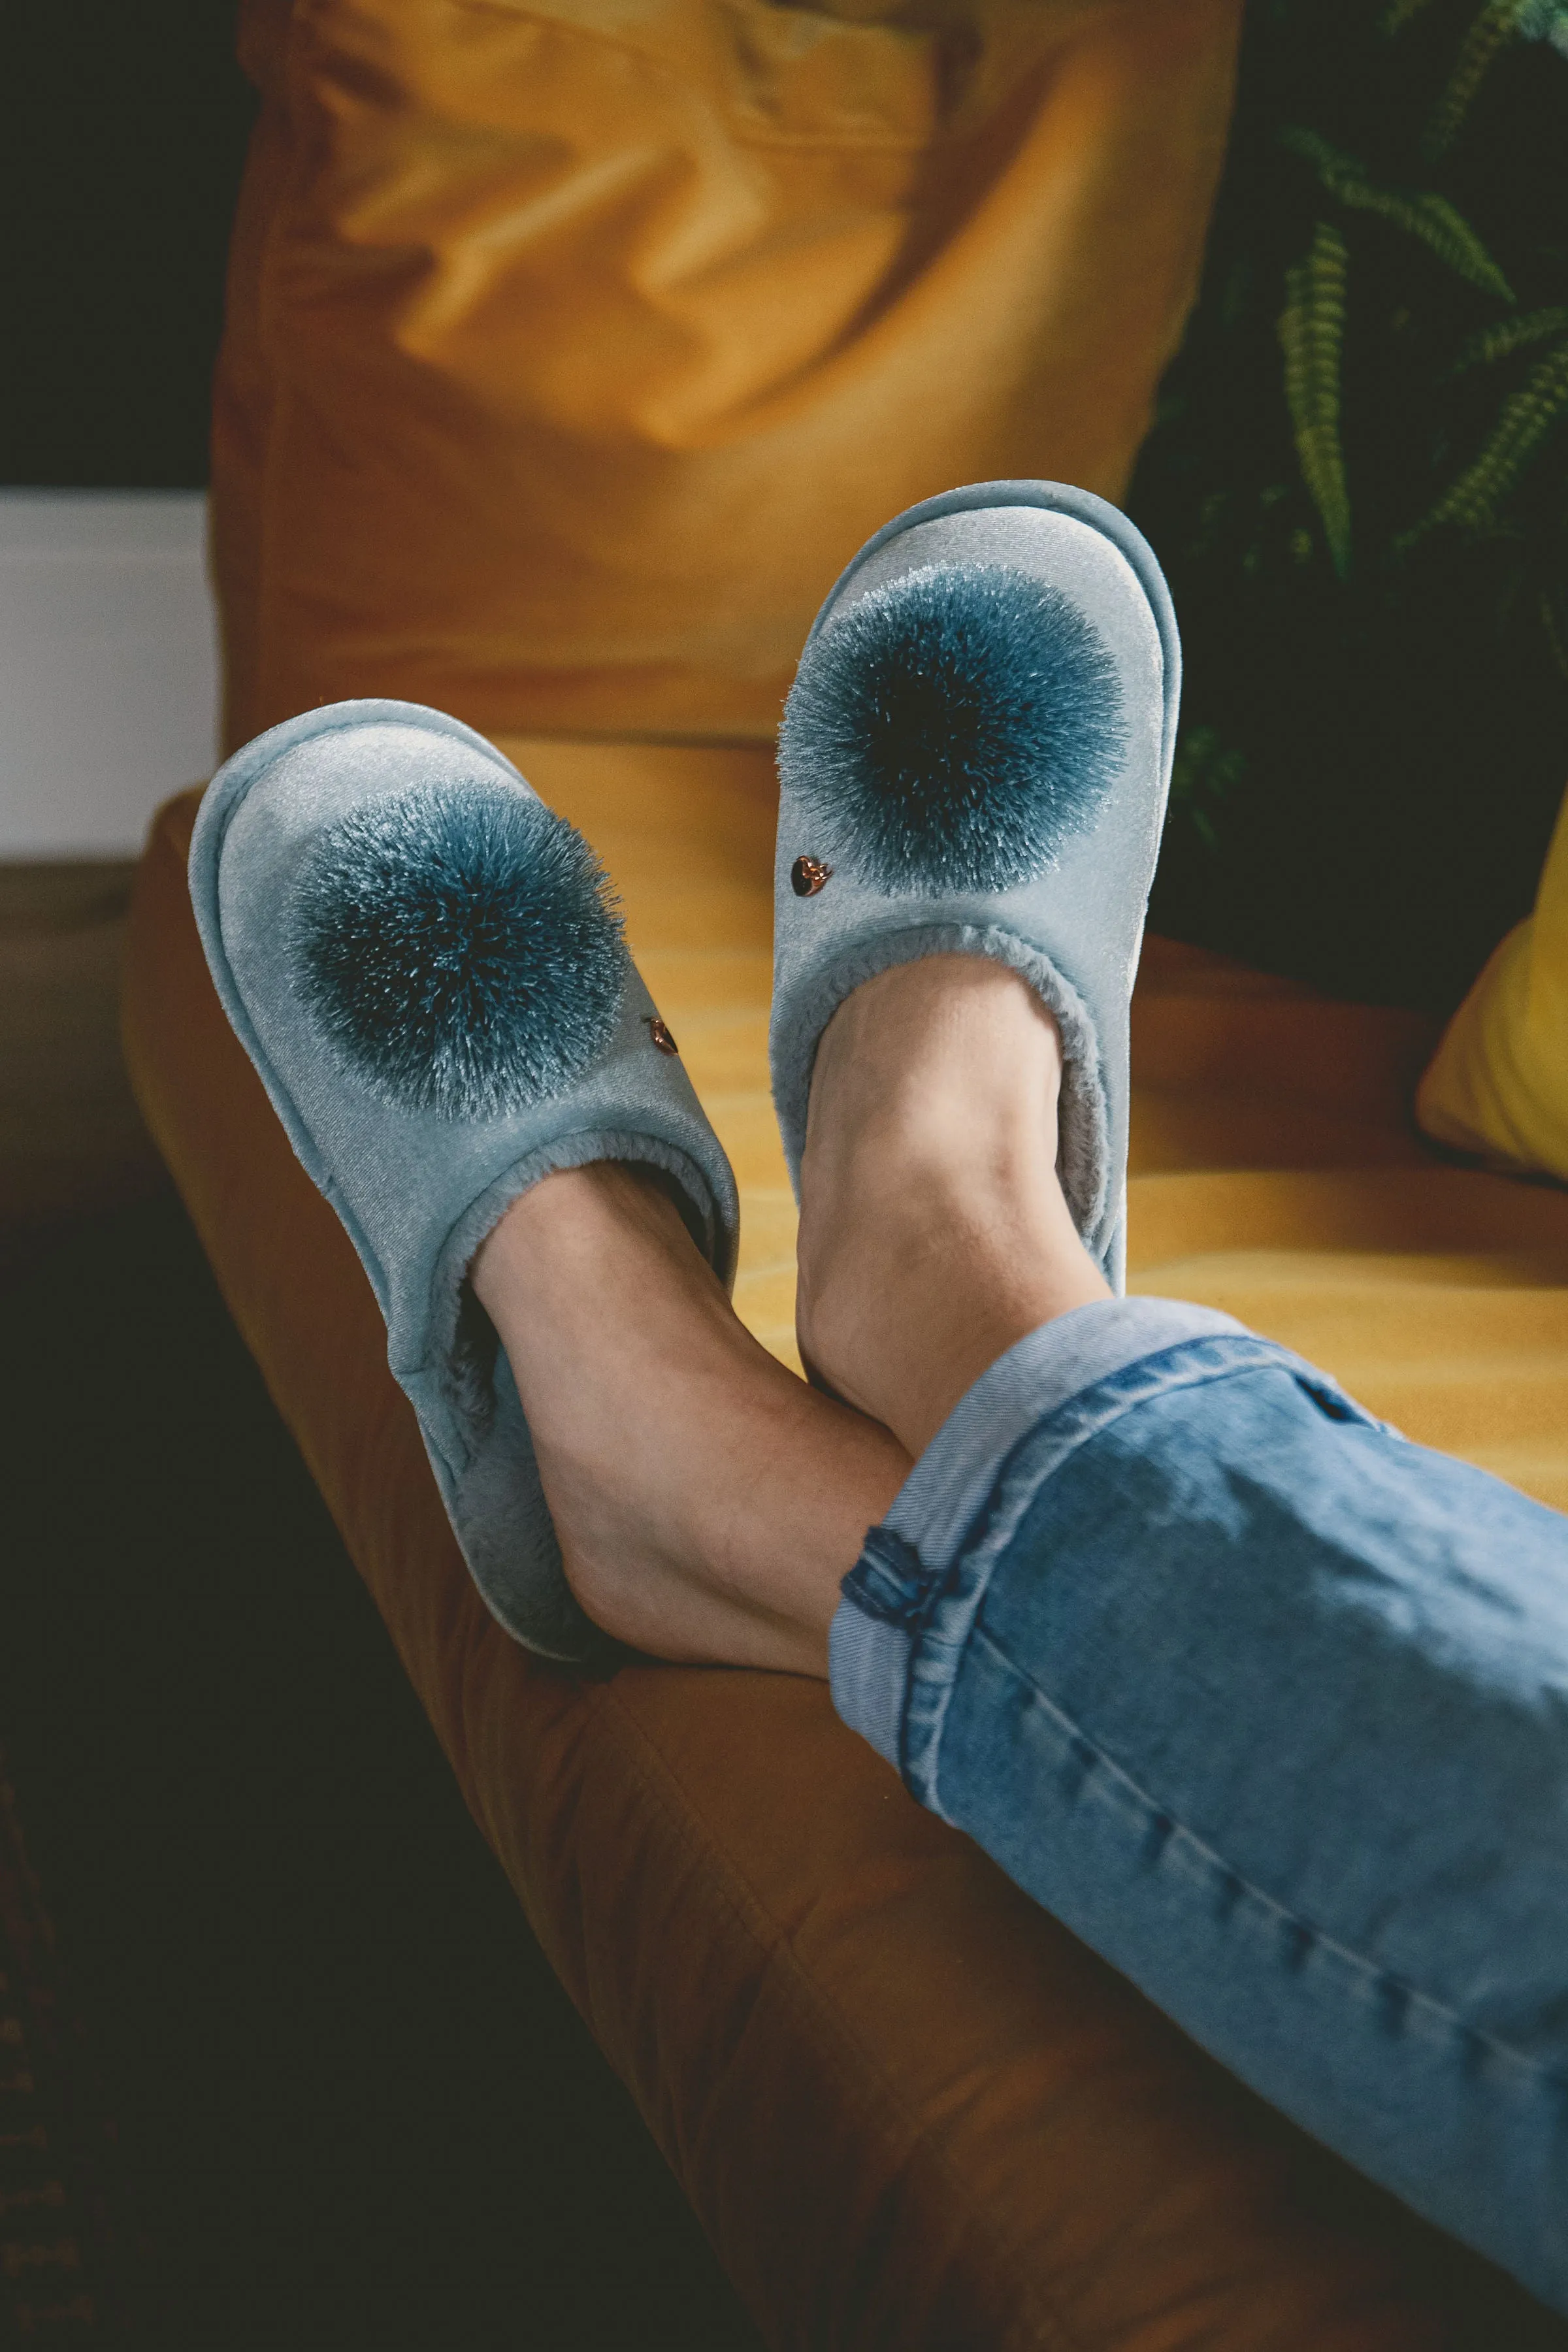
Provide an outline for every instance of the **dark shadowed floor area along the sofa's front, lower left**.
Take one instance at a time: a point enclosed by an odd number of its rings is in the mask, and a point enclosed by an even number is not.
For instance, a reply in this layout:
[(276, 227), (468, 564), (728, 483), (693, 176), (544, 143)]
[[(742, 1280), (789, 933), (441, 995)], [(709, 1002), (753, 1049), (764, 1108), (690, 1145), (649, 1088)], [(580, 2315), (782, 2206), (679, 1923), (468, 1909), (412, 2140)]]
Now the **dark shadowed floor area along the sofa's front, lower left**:
[(92, 2343), (759, 2352), (179, 1204), (66, 1232), (0, 1327), (0, 1748), (82, 2030)]

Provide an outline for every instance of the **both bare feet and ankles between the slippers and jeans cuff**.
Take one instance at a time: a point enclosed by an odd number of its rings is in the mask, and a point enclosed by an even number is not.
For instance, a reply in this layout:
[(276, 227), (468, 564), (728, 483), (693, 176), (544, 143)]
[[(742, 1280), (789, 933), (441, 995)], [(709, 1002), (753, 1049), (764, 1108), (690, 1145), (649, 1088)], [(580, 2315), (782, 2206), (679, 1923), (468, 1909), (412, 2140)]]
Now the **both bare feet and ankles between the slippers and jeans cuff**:
[[(1058, 1084), (1056, 1023), (999, 964), (905, 964), (839, 1009), (802, 1256), (802, 1338), (837, 1397), (745, 1331), (644, 1176), (564, 1169), (508, 1209), (473, 1287), (607, 1632), (827, 1672), (842, 1578), (912, 1451), (1016, 1338), (1110, 1296), (1053, 1171)], [(856, 1409), (872, 1390), (879, 1418)]]

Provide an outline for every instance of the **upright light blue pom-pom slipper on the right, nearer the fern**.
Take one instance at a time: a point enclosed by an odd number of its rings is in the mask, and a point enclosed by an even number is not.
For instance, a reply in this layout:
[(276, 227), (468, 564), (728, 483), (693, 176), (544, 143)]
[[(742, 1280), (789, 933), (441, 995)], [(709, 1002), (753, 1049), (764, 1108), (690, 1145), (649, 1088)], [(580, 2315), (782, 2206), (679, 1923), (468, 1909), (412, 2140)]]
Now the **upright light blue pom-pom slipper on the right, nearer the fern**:
[(797, 1190), (816, 1044), (851, 988), (990, 955), (1060, 1023), (1063, 1190), (1121, 1291), (1128, 1000), (1178, 694), (1159, 564), (1086, 489), (978, 482), (860, 548), (778, 739), (771, 1061)]

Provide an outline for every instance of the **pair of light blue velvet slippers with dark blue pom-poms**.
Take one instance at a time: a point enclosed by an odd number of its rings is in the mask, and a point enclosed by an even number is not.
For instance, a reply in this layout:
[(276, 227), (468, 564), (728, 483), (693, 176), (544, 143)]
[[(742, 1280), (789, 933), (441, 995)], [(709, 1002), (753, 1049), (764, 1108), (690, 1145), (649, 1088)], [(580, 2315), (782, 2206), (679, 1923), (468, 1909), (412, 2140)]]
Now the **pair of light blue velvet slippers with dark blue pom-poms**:
[[(1121, 1287), (1128, 997), (1180, 652), (1105, 501), (985, 482), (910, 508), (823, 604), (778, 771), (773, 1098), (799, 1183), (816, 1044), (891, 964), (985, 955), (1060, 1023), (1060, 1176)], [(505, 1355), (468, 1289), (552, 1169), (658, 1169), (729, 1282), (736, 1185), (571, 826), (473, 729), (350, 701), (214, 776), (190, 896), (228, 1018), (341, 1216), (496, 1618), (597, 1635), (562, 1573)]]

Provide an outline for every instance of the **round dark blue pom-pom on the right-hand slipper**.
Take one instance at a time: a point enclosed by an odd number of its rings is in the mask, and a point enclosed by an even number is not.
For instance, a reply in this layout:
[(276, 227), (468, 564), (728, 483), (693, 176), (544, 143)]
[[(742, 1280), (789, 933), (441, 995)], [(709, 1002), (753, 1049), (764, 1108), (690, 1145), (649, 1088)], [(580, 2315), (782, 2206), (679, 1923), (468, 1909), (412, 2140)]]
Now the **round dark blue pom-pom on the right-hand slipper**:
[(778, 739), (813, 851), (884, 891), (1030, 882), (1093, 821), (1124, 753), (1098, 630), (1004, 564), (872, 588), (806, 649)]

